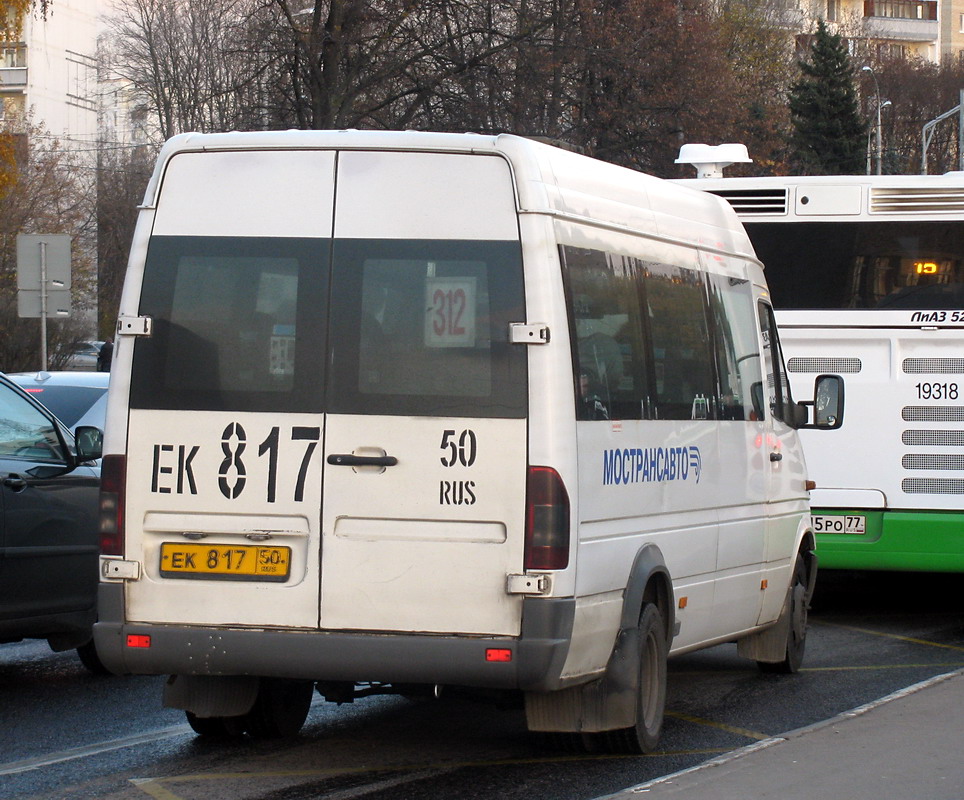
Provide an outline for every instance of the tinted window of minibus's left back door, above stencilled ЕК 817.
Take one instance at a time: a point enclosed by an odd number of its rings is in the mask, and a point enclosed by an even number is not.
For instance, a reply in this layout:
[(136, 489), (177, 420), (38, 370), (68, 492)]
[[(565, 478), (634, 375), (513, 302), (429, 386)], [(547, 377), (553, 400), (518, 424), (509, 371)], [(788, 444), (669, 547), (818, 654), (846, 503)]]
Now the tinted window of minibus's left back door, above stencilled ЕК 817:
[(153, 237), (131, 406), (320, 409), (326, 240)]

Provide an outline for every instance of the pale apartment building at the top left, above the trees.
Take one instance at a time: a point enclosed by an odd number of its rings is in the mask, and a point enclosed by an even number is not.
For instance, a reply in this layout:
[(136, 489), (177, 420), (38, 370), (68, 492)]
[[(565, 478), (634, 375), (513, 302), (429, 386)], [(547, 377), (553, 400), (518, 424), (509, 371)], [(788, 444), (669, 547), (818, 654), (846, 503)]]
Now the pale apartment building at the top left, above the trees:
[(27, 16), (19, 41), (0, 42), (0, 124), (29, 111), (68, 146), (97, 140), (97, 37), (106, 0), (56, 0)]

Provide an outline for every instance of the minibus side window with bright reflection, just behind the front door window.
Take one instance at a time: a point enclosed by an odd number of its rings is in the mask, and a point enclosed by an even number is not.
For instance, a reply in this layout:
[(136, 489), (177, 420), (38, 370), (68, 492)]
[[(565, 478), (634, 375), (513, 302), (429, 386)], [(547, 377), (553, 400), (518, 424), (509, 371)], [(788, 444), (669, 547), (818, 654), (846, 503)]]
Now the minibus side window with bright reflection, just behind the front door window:
[(766, 413), (753, 287), (745, 278), (711, 275), (709, 297), (720, 382), (718, 415), (762, 420)]

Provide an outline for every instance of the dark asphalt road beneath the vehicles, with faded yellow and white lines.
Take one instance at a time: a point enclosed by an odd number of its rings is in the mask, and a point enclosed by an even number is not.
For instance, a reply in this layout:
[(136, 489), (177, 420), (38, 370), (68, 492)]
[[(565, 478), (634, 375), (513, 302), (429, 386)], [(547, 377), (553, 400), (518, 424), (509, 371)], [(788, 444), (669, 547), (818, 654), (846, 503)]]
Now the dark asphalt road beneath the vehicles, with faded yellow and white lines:
[[(670, 662), (660, 752), (560, 752), (518, 709), (458, 696), (312, 707), (284, 742), (210, 744), (161, 678), (97, 677), (44, 643), (0, 646), (0, 797), (590, 800), (964, 666), (964, 576), (824, 572), (804, 669), (723, 645)], [(955, 713), (957, 709), (949, 709)]]

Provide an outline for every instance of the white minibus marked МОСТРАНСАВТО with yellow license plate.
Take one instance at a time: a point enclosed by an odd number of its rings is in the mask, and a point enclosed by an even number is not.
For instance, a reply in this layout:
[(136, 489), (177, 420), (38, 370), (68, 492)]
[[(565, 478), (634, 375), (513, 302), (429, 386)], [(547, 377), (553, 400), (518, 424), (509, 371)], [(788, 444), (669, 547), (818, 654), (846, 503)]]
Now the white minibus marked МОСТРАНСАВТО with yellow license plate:
[(513, 136), (185, 134), (121, 300), (98, 652), (202, 735), (457, 685), (651, 750), (667, 654), (800, 666), (819, 409), (717, 198)]

